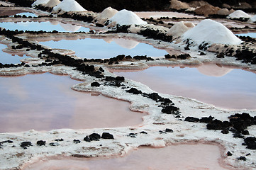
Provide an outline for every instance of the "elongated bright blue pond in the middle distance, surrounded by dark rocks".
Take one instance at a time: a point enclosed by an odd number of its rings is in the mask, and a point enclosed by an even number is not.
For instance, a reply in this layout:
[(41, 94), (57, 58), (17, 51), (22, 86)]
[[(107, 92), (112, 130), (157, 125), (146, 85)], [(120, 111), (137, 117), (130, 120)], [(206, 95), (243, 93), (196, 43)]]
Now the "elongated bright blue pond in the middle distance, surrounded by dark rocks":
[(87, 59), (106, 59), (117, 55), (147, 55), (148, 57), (162, 57), (166, 55), (165, 50), (160, 50), (152, 45), (139, 43), (135, 40), (123, 38), (113, 39), (91, 39), (82, 40), (60, 40), (40, 42), (52, 48), (73, 50), (75, 55)]

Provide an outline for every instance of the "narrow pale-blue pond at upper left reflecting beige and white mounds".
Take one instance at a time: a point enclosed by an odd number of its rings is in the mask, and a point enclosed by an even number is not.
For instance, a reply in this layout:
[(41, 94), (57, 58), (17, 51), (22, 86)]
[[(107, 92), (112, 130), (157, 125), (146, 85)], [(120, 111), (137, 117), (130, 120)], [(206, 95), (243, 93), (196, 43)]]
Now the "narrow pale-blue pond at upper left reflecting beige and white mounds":
[(70, 23), (62, 23), (57, 21), (45, 21), (45, 22), (2, 22), (1, 28), (6, 30), (31, 30), (31, 31), (52, 31), (57, 30), (59, 32), (89, 32), (89, 28), (72, 25)]

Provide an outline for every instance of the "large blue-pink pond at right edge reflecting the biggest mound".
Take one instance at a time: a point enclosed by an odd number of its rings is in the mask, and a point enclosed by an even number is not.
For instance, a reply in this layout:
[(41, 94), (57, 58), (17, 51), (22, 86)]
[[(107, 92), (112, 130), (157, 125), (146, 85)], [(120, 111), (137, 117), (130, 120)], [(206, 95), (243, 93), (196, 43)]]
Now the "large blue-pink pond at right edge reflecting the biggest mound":
[(256, 109), (256, 75), (242, 69), (204, 64), (198, 68), (150, 67), (116, 74), (162, 94), (194, 98), (221, 108)]

